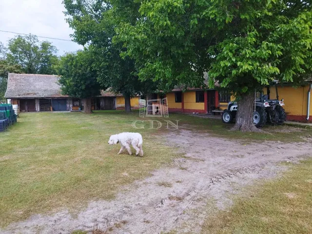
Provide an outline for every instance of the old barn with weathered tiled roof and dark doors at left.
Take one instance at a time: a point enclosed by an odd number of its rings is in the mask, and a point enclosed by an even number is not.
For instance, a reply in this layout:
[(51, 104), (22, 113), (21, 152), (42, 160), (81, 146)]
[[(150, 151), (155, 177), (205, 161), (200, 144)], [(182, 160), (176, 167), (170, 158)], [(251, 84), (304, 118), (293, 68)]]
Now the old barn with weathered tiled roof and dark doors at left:
[[(83, 110), (83, 99), (62, 95), (58, 80), (59, 76), (55, 75), (9, 73), (4, 97), (8, 99), (8, 103), (18, 104), (20, 112)], [(133, 107), (136, 107), (137, 99), (135, 97), (131, 100)], [(122, 107), (124, 108), (123, 96), (109, 91), (102, 91), (100, 96), (92, 99), (93, 110), (115, 110)]]

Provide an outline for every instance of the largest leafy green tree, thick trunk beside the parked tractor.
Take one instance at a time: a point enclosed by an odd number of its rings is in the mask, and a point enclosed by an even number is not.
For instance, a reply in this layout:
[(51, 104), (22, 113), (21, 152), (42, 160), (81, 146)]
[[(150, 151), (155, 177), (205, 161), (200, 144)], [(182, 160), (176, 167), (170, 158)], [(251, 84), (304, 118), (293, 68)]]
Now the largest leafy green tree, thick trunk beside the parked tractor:
[[(115, 1), (114, 1), (115, 2)], [(118, 1), (116, 1), (118, 2)], [(137, 2), (137, 1), (136, 1)], [(143, 0), (116, 39), (138, 75), (203, 85), (208, 72), (238, 101), (234, 130), (256, 131), (254, 92), (273, 79), (299, 82), (312, 70), (312, 5), (305, 0)], [(118, 7), (118, 4), (116, 4)]]

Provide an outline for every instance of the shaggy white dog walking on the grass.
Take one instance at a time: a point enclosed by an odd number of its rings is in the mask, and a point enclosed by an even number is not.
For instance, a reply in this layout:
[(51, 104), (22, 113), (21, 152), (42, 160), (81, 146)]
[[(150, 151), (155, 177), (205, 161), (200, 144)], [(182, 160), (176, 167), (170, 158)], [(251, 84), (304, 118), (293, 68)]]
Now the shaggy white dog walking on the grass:
[(136, 155), (143, 156), (143, 150), (142, 150), (142, 144), (143, 139), (141, 134), (139, 133), (119, 133), (116, 135), (112, 135), (109, 137), (108, 144), (115, 145), (115, 144), (121, 144), (121, 149), (118, 153), (121, 154), (124, 148), (128, 151), (129, 155), (132, 155), (130, 144), (132, 147), (136, 150)]

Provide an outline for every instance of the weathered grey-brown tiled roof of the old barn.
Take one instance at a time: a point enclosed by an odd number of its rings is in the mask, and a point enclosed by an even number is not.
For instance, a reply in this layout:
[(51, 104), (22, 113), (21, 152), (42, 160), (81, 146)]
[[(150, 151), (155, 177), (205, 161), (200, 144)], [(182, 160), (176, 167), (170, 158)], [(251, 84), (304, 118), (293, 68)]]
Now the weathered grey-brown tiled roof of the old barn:
[(55, 75), (9, 73), (5, 98), (62, 98)]

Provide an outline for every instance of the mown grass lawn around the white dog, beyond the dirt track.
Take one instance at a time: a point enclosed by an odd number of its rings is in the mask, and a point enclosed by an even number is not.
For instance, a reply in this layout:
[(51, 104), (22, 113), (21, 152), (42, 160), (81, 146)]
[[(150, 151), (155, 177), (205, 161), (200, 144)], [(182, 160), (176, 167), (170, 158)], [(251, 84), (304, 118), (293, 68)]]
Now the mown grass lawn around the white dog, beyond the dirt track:
[[(132, 128), (138, 119), (138, 112), (123, 111), (20, 114), (16, 125), (0, 133), (0, 226), (63, 207), (78, 210), (90, 200), (112, 199), (121, 185), (148, 176), (178, 156), (163, 143), (162, 134), (170, 131), (165, 124), (151, 130), (146, 121), (145, 129)], [(179, 120), (180, 128), (248, 141), (297, 141), (312, 135), (310, 128), (294, 134), (292, 127), (281, 126), (266, 128), (270, 134), (233, 133), (220, 119), (179, 114), (169, 119)], [(279, 132), (284, 128), (290, 131)], [(120, 145), (108, 145), (110, 135), (126, 131), (142, 134), (144, 157), (117, 155)]]

